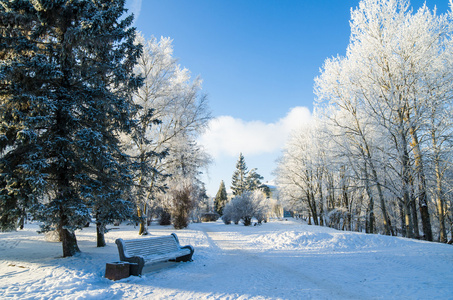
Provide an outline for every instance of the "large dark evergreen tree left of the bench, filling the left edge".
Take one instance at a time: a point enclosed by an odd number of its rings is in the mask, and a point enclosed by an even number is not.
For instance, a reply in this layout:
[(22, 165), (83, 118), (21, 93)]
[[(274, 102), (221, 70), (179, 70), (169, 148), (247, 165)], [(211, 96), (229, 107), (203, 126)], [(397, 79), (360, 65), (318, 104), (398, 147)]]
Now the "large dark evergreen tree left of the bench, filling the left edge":
[[(2, 1), (0, 203), (2, 215), (36, 206), (58, 229), (63, 256), (95, 211), (99, 228), (131, 215), (118, 134), (131, 125), (141, 83), (124, 0)], [(2, 216), (3, 218), (3, 216)], [(14, 218), (2, 219), (9, 222)]]

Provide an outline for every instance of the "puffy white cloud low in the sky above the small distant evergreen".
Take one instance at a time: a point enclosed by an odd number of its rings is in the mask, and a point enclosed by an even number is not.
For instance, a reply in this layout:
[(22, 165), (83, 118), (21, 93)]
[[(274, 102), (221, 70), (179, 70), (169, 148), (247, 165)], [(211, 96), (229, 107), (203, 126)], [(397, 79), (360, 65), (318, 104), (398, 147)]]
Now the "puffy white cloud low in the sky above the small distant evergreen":
[(209, 129), (199, 142), (214, 158), (244, 155), (258, 155), (280, 150), (292, 130), (311, 120), (306, 107), (292, 108), (289, 113), (275, 123), (262, 121), (246, 122), (231, 116), (213, 119)]

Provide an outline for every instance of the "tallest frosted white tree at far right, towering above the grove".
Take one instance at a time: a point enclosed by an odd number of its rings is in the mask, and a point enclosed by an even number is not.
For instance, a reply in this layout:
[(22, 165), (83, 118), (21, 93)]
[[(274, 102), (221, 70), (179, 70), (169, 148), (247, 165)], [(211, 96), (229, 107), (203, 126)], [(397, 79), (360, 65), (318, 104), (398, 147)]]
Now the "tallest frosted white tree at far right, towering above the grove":
[(318, 81), (322, 99), (367, 115), (386, 135), (391, 151), (384, 155), (393, 170), (387, 186), (400, 199), (408, 237), (419, 236), (419, 210), (423, 235), (433, 240), (422, 142), (429, 107), (445, 95), (439, 87), (451, 90), (450, 36), (447, 17), (426, 6), (412, 13), (409, 1), (361, 1), (352, 12), (346, 57), (326, 61)]

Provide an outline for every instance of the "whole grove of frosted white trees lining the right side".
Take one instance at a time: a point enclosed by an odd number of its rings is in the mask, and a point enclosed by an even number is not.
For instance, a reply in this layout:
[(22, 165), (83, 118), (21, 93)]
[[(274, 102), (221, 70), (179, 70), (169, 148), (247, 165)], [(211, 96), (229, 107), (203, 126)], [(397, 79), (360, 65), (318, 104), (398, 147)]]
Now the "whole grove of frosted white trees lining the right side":
[(316, 79), (314, 124), (279, 162), (288, 204), (315, 224), (427, 240), (434, 228), (447, 240), (452, 20), (405, 0), (360, 1), (346, 55)]

